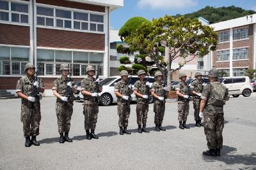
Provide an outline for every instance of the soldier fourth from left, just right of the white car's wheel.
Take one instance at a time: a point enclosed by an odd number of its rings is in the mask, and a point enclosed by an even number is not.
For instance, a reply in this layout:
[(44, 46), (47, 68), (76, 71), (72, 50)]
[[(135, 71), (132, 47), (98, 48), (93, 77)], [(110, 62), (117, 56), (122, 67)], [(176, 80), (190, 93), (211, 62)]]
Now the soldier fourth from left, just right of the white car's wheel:
[[(128, 72), (126, 70), (122, 70), (120, 72), (120, 76), (122, 80), (118, 81), (115, 84), (115, 95), (117, 97), (117, 114), (119, 116), (118, 125), (120, 128), (119, 133), (121, 135), (131, 134), (131, 132), (127, 131), (128, 127), (128, 119), (130, 116), (130, 102), (131, 102), (131, 85), (128, 84)], [(124, 129), (123, 129), (124, 128)]]

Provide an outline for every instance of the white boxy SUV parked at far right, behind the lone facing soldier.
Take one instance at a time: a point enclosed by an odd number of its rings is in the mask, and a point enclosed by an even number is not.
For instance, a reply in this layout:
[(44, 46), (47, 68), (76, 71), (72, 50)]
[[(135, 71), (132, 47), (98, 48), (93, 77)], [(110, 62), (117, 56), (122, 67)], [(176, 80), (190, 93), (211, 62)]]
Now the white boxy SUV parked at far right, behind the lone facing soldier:
[(249, 97), (253, 92), (248, 76), (223, 77), (219, 80), (228, 88), (228, 93), (233, 97), (239, 97), (241, 94), (244, 97)]

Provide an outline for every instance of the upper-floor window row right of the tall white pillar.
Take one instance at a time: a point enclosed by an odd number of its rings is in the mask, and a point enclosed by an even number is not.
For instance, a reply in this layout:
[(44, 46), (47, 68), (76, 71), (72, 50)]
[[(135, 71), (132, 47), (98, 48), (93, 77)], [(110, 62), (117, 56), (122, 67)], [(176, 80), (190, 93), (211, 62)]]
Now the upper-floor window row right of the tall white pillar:
[(37, 25), (104, 32), (104, 15), (43, 6), (37, 6), (36, 10)]

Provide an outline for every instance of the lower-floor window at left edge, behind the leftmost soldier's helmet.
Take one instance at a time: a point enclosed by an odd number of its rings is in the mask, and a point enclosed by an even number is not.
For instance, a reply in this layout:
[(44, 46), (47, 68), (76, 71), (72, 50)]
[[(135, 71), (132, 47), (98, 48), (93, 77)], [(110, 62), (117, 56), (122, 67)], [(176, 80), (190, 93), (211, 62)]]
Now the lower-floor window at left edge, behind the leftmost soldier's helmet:
[(0, 74), (24, 74), (29, 62), (29, 48), (0, 46)]

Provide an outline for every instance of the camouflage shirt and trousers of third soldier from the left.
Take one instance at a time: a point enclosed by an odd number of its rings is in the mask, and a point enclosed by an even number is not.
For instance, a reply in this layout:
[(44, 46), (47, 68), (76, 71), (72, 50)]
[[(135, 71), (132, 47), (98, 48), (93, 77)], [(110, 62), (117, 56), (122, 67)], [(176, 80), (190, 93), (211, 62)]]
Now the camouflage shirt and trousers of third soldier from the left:
[[(81, 81), (81, 91), (86, 90), (87, 92), (96, 91), (95, 78), (88, 76)], [(94, 101), (94, 97), (84, 95), (84, 129), (86, 131), (95, 129), (97, 124), (97, 118), (99, 113), (99, 99)]]

